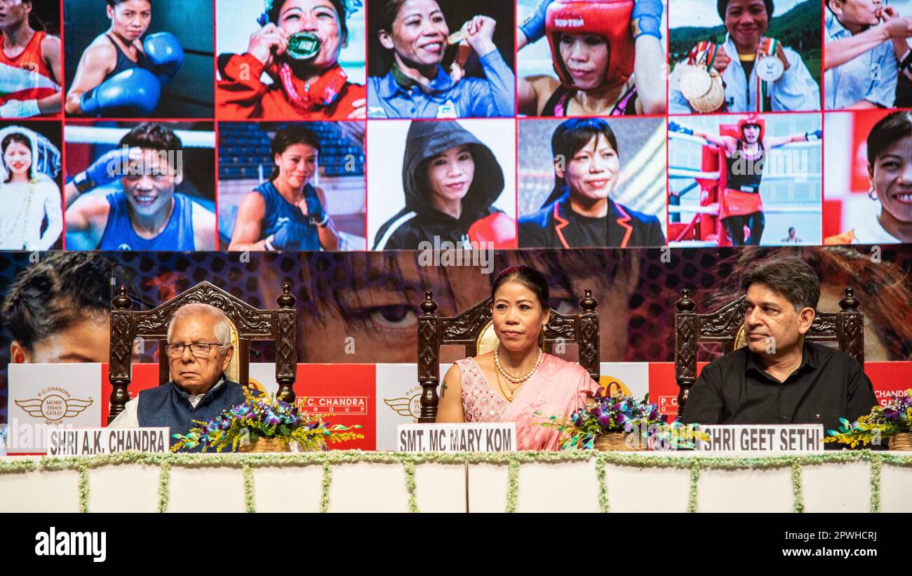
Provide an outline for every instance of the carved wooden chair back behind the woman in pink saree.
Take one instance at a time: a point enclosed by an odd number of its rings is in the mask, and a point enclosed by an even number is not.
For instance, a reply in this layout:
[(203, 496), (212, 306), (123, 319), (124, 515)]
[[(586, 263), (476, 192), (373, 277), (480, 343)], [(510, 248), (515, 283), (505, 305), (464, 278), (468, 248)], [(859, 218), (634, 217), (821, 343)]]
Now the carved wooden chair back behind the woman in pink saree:
[[(438, 316), (437, 303), (430, 290), (424, 293), (418, 319), (418, 382), (421, 386), (421, 410), (419, 422), (430, 423), (437, 418), (440, 400), (437, 386), (440, 384), (440, 345), (465, 345), (465, 355), (475, 356), (491, 349), (492, 342), (492, 298), (455, 316)], [(551, 310), (548, 324), (544, 327), (544, 350), (551, 352), (555, 343), (579, 346), (579, 364), (586, 368), (598, 382), (598, 301), (592, 291), (586, 290), (579, 301), (580, 314), (560, 314)], [(496, 341), (496, 336), (493, 336)]]

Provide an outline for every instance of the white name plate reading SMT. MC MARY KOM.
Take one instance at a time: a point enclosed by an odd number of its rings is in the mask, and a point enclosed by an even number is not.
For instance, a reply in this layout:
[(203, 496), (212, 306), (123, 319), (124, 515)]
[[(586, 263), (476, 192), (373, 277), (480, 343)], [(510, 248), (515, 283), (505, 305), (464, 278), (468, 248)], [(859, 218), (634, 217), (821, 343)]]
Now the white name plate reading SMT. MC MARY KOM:
[(400, 424), (399, 452), (513, 452), (515, 422)]

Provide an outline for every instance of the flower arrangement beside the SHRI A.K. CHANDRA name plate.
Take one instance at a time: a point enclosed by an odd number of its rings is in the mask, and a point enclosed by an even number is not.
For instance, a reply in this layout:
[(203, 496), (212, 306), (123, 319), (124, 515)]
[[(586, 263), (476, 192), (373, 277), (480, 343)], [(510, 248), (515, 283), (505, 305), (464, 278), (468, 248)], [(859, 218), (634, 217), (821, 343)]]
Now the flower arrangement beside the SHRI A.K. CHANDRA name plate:
[(171, 452), (194, 448), (202, 444), (202, 451), (214, 447), (221, 452), (230, 447), (236, 452), (247, 443), (260, 438), (281, 440), (283, 444), (297, 447), (303, 452), (325, 450), (326, 442), (345, 442), (364, 435), (350, 432), (352, 427), (337, 424), (329, 426), (322, 415), (309, 416), (305, 410), (306, 398), (298, 398), (295, 404), (278, 399), (276, 396), (254, 396), (244, 388), (244, 402), (226, 408), (221, 416), (212, 420), (193, 420), (198, 425), (191, 428), (186, 436), (174, 434), (177, 443)]

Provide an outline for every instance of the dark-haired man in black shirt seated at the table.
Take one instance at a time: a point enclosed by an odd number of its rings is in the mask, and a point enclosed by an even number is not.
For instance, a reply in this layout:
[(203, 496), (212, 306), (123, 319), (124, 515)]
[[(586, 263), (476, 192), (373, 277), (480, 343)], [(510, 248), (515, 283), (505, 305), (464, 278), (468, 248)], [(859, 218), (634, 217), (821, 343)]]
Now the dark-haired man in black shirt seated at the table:
[(839, 427), (877, 404), (855, 359), (804, 342), (820, 283), (797, 258), (754, 262), (741, 275), (747, 345), (706, 365), (681, 420), (700, 424), (823, 424)]

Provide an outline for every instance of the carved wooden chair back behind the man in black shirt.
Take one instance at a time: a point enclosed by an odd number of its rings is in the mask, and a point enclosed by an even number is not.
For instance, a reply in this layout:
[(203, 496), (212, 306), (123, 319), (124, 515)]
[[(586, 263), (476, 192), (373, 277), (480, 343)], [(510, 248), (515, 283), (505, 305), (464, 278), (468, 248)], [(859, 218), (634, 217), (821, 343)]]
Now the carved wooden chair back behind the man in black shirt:
[[(678, 414), (687, 404), (690, 386), (697, 381), (697, 346), (720, 342), (722, 353), (744, 345), (744, 296), (710, 314), (697, 314), (690, 291), (681, 290), (675, 303), (675, 380), (678, 382)], [(852, 288), (839, 300), (839, 312), (818, 312), (811, 329), (804, 334), (810, 342), (837, 342), (839, 349), (865, 365), (865, 316), (858, 310)]]

